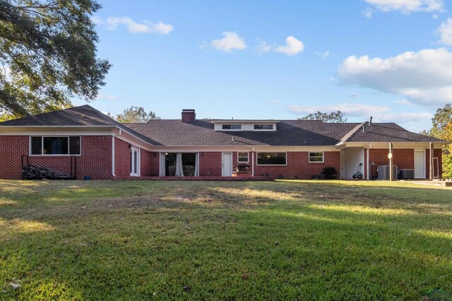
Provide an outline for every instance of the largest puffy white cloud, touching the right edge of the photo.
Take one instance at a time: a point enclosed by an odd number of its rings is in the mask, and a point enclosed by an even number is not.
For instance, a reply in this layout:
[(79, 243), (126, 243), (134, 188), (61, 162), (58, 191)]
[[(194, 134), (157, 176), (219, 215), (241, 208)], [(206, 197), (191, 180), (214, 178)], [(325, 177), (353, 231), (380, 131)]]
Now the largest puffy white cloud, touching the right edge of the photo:
[(452, 101), (452, 52), (445, 48), (404, 52), (387, 59), (347, 57), (338, 67), (338, 76), (343, 84), (405, 95), (421, 105)]

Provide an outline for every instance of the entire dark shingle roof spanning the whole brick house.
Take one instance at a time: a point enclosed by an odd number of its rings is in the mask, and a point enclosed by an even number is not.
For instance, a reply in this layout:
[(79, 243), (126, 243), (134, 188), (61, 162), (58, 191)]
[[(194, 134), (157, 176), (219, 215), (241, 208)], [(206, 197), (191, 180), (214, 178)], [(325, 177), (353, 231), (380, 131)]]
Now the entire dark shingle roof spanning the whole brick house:
[[(276, 131), (213, 131), (210, 120), (185, 123), (152, 119), (147, 124), (120, 124), (90, 105), (0, 122), (0, 126), (114, 126), (153, 146), (334, 146), (347, 142), (444, 142), (412, 133), (394, 123), (323, 123), (280, 120)], [(365, 131), (362, 131), (365, 126)]]

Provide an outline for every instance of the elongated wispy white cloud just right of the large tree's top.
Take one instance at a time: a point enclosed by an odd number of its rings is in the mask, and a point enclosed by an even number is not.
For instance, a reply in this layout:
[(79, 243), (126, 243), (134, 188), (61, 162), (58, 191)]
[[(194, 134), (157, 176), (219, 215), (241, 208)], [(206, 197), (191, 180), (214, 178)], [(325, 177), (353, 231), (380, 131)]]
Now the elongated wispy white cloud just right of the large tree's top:
[(129, 33), (157, 33), (158, 35), (167, 35), (174, 30), (171, 24), (152, 23), (144, 20), (143, 23), (137, 23), (129, 17), (109, 17), (107, 20), (102, 20), (97, 16), (91, 18), (97, 25), (105, 25), (108, 30), (116, 30), (119, 25), (126, 26)]

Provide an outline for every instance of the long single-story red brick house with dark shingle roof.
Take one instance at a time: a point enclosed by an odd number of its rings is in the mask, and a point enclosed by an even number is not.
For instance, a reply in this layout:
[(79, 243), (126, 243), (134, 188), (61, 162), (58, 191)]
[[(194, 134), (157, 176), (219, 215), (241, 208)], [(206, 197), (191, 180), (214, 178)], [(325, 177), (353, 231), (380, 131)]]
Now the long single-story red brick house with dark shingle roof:
[(197, 120), (194, 110), (181, 119), (120, 124), (83, 105), (1, 122), (0, 179), (20, 179), (25, 164), (76, 179), (311, 179), (327, 166), (352, 179), (361, 165), (362, 178), (374, 179), (388, 172), (390, 152), (395, 177), (432, 179), (441, 177), (448, 143), (394, 123)]

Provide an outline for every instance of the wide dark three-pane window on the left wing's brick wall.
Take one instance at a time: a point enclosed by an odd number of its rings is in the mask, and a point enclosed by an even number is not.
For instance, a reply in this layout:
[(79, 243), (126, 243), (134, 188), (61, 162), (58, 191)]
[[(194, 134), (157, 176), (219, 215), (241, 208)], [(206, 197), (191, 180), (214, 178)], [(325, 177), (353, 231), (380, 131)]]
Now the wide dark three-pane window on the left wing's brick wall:
[(80, 136), (30, 137), (31, 155), (80, 155)]

